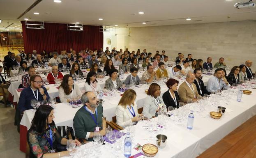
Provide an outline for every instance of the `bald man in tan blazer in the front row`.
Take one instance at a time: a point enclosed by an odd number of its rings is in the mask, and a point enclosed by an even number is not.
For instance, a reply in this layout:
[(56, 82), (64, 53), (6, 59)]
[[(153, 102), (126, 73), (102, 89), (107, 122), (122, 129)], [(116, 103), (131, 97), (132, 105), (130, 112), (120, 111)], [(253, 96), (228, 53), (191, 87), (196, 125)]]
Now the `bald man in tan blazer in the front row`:
[(178, 89), (178, 94), (180, 96), (180, 101), (188, 103), (188, 101), (197, 101), (197, 98), (201, 98), (198, 94), (196, 85), (194, 84), (195, 75), (193, 73), (188, 73), (186, 80), (180, 85)]

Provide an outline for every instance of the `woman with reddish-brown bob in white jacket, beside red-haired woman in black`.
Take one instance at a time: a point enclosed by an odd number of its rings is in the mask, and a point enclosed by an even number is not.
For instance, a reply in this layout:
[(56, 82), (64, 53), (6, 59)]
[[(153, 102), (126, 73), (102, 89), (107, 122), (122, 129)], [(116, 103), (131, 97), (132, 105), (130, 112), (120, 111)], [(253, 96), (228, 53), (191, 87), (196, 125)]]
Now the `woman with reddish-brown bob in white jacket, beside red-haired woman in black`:
[(148, 89), (148, 96), (144, 99), (142, 114), (147, 118), (157, 117), (158, 112), (167, 112), (166, 105), (161, 97), (160, 86), (152, 83)]

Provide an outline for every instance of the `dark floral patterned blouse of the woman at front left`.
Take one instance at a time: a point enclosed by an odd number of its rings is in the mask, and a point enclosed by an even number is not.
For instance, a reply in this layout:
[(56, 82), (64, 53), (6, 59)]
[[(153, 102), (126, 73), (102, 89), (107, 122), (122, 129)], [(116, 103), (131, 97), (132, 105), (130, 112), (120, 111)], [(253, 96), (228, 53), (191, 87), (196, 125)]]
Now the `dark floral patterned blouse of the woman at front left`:
[[(56, 150), (57, 144), (60, 144), (62, 137), (58, 133), (54, 122), (50, 124), (53, 135), (53, 149)], [(27, 140), (30, 147), (30, 158), (42, 158), (44, 153), (51, 150), (50, 128), (47, 128), (43, 133), (38, 133), (35, 129), (30, 128), (27, 134)]]

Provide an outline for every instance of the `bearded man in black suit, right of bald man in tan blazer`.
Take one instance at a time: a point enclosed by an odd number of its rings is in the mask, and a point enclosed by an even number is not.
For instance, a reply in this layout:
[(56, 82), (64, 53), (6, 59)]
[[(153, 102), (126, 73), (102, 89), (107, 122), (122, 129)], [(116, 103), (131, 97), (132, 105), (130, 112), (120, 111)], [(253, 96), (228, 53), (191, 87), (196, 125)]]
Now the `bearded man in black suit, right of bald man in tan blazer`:
[(194, 70), (194, 75), (196, 76), (194, 80), (194, 84), (196, 85), (196, 89), (199, 95), (203, 96), (204, 94), (211, 94), (208, 92), (205, 88), (205, 85), (203, 83), (203, 76), (202, 76), (202, 71), (201, 69), (195, 69)]

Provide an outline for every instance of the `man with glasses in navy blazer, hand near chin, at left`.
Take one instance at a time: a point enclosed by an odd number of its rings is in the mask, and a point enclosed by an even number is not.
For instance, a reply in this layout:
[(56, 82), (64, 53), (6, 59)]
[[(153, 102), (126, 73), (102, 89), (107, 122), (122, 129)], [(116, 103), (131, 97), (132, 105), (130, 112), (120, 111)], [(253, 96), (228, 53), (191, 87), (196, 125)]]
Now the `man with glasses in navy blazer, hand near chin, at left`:
[(45, 87), (42, 86), (42, 78), (39, 75), (30, 77), (30, 86), (21, 91), (20, 98), (18, 100), (18, 110), (22, 115), (25, 110), (32, 109), (30, 101), (36, 99), (37, 101), (45, 101), (50, 97)]

